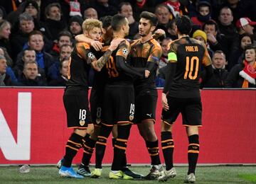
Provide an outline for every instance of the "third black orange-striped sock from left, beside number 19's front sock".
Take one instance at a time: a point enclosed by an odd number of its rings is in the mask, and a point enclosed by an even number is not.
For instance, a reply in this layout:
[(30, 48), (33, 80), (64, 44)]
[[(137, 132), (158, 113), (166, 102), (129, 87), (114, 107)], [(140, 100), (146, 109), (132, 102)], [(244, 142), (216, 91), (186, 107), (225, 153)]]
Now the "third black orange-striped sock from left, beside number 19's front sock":
[(107, 137), (110, 136), (110, 133), (112, 131), (113, 127), (108, 127), (105, 125), (102, 125), (100, 128), (100, 134), (97, 138), (96, 142), (96, 151), (95, 151), (95, 157), (96, 157), (96, 164), (95, 168), (102, 168), (102, 159), (105, 154), (105, 149), (107, 145)]

